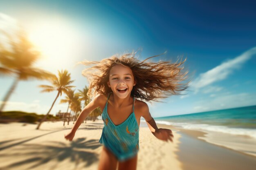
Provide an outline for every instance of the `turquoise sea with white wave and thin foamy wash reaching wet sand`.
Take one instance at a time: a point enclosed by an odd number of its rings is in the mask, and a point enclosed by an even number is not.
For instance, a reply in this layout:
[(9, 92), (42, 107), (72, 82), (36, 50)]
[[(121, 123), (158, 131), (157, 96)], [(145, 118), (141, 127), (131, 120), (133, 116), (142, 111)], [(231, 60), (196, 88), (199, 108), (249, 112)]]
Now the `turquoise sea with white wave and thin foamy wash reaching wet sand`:
[(256, 157), (256, 106), (154, 119), (158, 124), (206, 132), (198, 138)]

